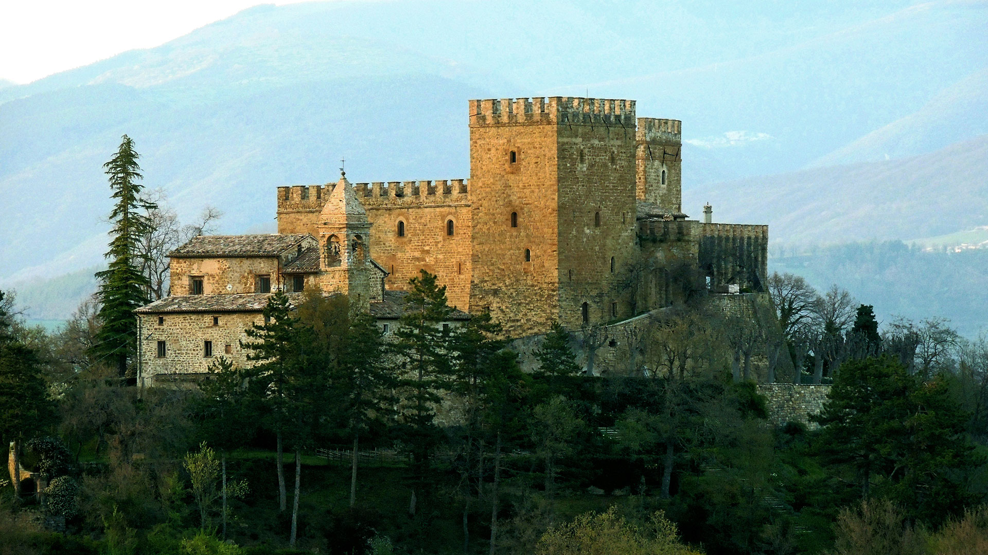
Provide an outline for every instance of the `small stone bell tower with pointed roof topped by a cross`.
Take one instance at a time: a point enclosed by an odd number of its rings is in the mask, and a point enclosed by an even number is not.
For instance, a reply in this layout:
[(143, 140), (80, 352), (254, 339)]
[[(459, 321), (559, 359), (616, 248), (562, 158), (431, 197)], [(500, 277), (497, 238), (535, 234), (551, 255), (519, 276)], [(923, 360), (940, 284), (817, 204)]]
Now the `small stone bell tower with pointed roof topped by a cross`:
[(367, 210), (341, 170), (340, 181), (319, 213), (319, 287), (350, 296), (351, 303), (369, 310), (371, 302), (371, 222)]

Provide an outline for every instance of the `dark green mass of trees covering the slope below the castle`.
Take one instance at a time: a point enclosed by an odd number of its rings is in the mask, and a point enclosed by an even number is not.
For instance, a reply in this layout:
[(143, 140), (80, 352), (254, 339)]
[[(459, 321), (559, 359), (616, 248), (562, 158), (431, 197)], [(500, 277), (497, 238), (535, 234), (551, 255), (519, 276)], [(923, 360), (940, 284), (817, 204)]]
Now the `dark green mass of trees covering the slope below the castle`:
[[(656, 327), (664, 362), (647, 377), (576, 375), (558, 327), (528, 374), (489, 314), (451, 320), (434, 276), (411, 285), (390, 337), (346, 296), (276, 293), (248, 333), (252, 364), (218, 357), (188, 389), (119, 387), (106, 360), (66, 347), (95, 335), (91, 311), (48, 337), (8, 308), (0, 347), (48, 411), (18, 421), (19, 452), (49, 483), (5, 488), (0, 532), (26, 553), (925, 555), (988, 541), (988, 342), (942, 321), (882, 327), (839, 289), (803, 291), (789, 354), (806, 349), (812, 379), (819, 350), (833, 385), (819, 429), (773, 428), (717, 355), (723, 332), (688, 307)], [(832, 343), (798, 343), (812, 326)], [(2, 415), (27, 406), (0, 401)]]

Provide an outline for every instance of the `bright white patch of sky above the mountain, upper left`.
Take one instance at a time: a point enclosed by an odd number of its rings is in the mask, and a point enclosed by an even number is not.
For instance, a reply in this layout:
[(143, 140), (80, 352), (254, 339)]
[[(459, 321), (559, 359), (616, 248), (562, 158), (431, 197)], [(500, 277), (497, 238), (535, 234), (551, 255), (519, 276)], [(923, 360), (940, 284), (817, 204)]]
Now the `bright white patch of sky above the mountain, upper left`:
[(0, 79), (28, 83), (147, 48), (258, 4), (300, 0), (0, 0)]

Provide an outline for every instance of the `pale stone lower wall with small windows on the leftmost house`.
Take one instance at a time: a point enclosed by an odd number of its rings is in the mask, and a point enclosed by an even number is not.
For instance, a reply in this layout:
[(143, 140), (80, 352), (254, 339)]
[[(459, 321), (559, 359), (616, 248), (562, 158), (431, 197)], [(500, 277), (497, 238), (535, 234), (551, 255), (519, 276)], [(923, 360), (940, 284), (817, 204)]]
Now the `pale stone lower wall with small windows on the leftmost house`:
[[(164, 324), (158, 325), (158, 317)], [(212, 318), (219, 318), (212, 325)], [(226, 357), (235, 365), (249, 362), (240, 347), (247, 339), (245, 331), (253, 324), (261, 324), (260, 312), (206, 312), (147, 314), (140, 318), (140, 377), (143, 385), (155, 385), (165, 381), (188, 378), (189, 374), (207, 371), (218, 357)], [(158, 342), (164, 341), (166, 354), (159, 358)], [(212, 342), (212, 356), (205, 357), (205, 342)], [(229, 353), (226, 352), (227, 346)]]

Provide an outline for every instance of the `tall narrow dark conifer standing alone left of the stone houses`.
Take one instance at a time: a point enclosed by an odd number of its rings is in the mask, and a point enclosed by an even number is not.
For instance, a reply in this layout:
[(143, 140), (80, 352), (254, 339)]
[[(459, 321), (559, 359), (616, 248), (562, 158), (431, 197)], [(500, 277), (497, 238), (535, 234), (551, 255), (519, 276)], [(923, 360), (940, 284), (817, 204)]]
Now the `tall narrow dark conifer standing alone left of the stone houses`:
[(136, 352), (137, 323), (135, 308), (147, 303), (148, 281), (140, 269), (140, 244), (150, 231), (147, 210), (157, 207), (141, 197), (138, 182), (143, 176), (137, 165), (139, 154), (133, 149), (133, 140), (124, 135), (114, 157), (103, 165), (110, 176), (111, 198), (117, 203), (110, 212), (113, 228), (110, 230), (110, 260), (107, 270), (97, 272), (100, 289), (100, 331), (92, 347), (93, 355), (113, 360), (120, 377), (126, 375), (127, 362)]

